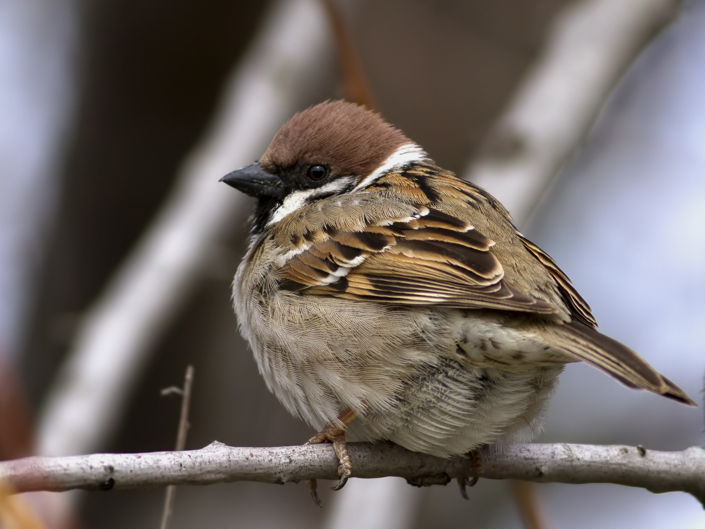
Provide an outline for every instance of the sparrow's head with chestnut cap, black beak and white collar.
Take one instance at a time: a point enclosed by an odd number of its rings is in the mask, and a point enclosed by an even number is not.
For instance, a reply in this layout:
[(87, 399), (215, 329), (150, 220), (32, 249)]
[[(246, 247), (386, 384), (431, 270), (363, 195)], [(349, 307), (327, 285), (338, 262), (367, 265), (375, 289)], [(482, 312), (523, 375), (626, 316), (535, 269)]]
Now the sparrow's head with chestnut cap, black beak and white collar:
[(255, 164), (221, 178), (257, 197), (255, 232), (307, 204), (363, 190), (427, 154), (379, 114), (333, 101), (295, 114)]

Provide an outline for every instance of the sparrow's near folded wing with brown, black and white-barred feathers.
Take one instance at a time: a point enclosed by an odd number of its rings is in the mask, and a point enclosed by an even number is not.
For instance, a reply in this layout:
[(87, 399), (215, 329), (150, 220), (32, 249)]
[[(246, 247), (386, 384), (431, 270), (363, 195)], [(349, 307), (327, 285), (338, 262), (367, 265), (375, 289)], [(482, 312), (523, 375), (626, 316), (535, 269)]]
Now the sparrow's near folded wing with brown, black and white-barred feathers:
[(467, 221), (424, 205), (379, 204), (379, 197), (338, 197), (290, 219), (280, 232), (292, 249), (276, 274), (279, 288), (403, 305), (558, 312), (508, 285), (494, 241)]

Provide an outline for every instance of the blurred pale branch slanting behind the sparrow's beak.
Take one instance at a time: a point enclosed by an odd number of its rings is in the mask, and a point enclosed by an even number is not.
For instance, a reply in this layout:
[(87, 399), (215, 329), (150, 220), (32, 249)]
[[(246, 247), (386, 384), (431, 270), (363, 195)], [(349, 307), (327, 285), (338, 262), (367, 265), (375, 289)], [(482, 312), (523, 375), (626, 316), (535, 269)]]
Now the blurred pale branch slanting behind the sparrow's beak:
[(249, 202), (218, 183), (264, 152), (332, 66), (316, 0), (276, 3), (223, 95), (216, 122), (187, 160), (166, 204), (88, 310), (49, 391), (38, 452), (85, 454), (114, 432), (149, 351), (190, 293), (228, 225)]

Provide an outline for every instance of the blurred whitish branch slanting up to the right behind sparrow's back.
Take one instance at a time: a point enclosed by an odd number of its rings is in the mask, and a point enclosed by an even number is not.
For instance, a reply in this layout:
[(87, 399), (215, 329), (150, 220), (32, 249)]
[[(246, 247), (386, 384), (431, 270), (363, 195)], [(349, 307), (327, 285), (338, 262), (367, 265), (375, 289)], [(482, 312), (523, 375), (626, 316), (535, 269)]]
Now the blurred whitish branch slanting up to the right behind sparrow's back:
[(618, 80), (679, 5), (584, 0), (568, 8), (465, 178), (524, 225)]

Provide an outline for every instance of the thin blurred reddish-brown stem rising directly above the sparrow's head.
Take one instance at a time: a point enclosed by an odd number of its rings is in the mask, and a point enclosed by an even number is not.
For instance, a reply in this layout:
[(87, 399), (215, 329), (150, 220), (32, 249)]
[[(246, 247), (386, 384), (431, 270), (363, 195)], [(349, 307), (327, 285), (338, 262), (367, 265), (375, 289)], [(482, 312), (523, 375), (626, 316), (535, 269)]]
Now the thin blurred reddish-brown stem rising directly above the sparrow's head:
[(365, 78), (364, 70), (360, 56), (357, 55), (353, 37), (350, 36), (348, 25), (345, 24), (343, 13), (340, 6), (336, 4), (336, 0), (321, 0), (326, 8), (326, 13), (331, 23), (333, 30), (333, 39), (336, 42), (336, 51), (338, 53), (338, 63), (343, 71), (343, 80), (345, 81), (345, 92), (347, 92), (348, 101), (362, 104), (368, 109), (374, 110), (374, 100), (372, 92), (369, 90), (367, 78)]

